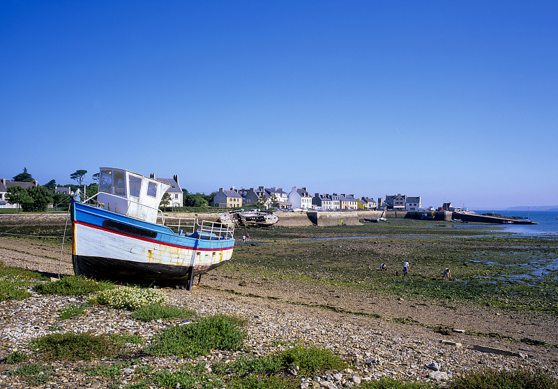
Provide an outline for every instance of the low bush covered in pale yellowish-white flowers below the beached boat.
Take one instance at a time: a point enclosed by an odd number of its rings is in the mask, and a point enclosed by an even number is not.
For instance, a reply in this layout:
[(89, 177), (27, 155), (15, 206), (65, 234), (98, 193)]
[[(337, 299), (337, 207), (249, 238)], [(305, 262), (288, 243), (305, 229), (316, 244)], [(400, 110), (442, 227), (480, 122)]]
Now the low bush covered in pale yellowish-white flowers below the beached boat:
[(89, 302), (108, 305), (116, 309), (135, 310), (145, 305), (163, 304), (167, 295), (160, 289), (116, 288), (96, 293)]

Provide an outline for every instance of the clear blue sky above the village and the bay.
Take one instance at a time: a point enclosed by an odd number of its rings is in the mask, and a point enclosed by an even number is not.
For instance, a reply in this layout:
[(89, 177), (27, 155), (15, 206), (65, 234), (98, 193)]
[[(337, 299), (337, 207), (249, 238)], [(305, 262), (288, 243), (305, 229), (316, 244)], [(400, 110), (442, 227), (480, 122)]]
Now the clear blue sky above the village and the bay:
[(0, 2), (0, 177), (558, 203), (558, 1)]

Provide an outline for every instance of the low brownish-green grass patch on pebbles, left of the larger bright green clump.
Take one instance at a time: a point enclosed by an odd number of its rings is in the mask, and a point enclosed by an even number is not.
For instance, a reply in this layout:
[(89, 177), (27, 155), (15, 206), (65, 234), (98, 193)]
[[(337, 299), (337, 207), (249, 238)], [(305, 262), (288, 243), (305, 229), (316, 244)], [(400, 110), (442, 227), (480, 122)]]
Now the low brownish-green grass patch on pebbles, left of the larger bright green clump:
[(76, 334), (66, 332), (51, 334), (31, 343), (38, 353), (47, 360), (91, 360), (116, 355), (126, 343), (141, 339), (138, 335), (93, 335), (90, 332)]

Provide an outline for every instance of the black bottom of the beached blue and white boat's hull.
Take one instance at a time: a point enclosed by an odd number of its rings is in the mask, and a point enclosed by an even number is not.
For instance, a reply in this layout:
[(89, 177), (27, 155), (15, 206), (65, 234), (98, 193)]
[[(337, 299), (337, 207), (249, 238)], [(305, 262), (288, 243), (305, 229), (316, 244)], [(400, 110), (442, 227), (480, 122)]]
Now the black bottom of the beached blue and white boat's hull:
[(221, 265), (204, 267), (138, 263), (131, 260), (98, 256), (72, 256), (74, 272), (87, 278), (114, 281), (123, 284), (153, 284), (158, 286), (187, 286), (197, 274), (203, 274)]

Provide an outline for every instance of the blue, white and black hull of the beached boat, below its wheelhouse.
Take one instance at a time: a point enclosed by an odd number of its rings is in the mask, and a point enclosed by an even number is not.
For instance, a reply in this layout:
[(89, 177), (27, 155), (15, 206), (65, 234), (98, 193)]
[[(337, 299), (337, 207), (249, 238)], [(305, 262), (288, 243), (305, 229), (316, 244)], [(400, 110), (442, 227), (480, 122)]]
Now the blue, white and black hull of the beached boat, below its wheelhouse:
[[(233, 229), (223, 228), (220, 223), (179, 224), (179, 232), (174, 233), (169, 226), (109, 208), (108, 203), (95, 207), (71, 200), (72, 262), (77, 275), (190, 289), (196, 274), (232, 257)], [(119, 205), (121, 212), (125, 209)], [(149, 219), (157, 218), (151, 215)], [(188, 235), (181, 229), (186, 226), (192, 228)]]

